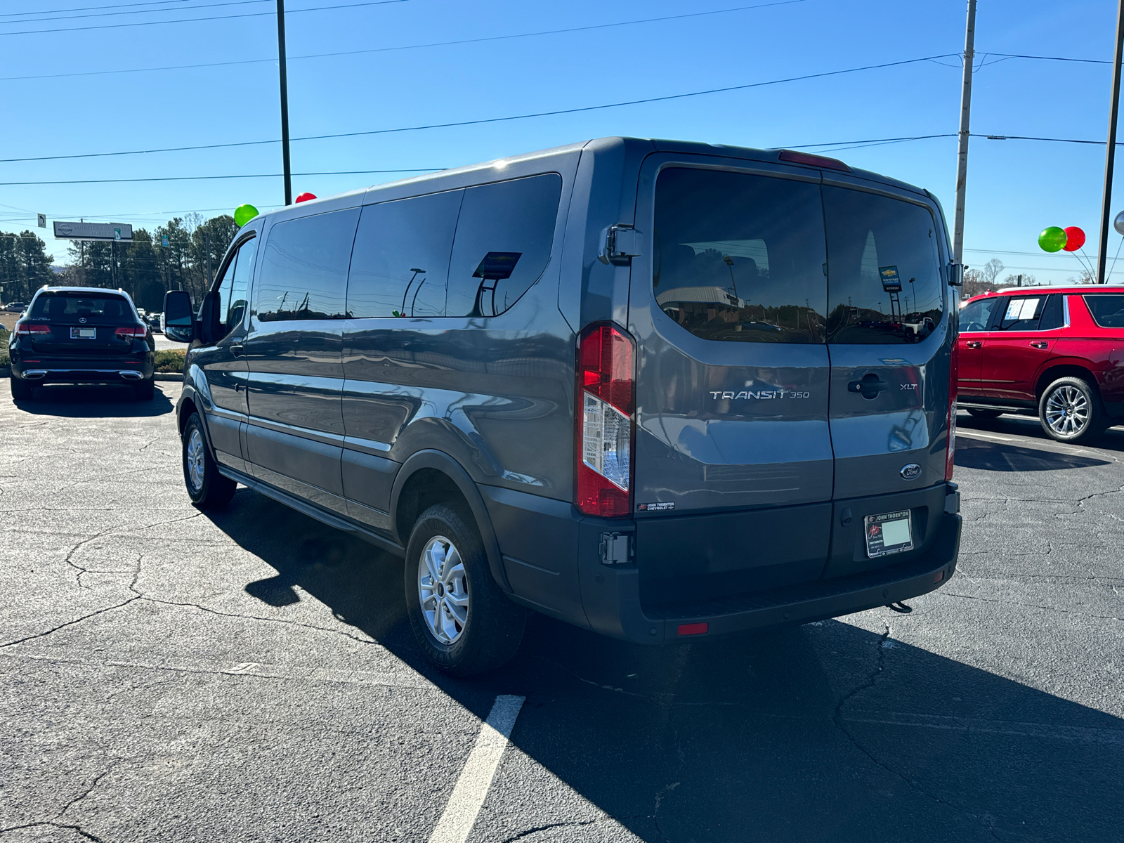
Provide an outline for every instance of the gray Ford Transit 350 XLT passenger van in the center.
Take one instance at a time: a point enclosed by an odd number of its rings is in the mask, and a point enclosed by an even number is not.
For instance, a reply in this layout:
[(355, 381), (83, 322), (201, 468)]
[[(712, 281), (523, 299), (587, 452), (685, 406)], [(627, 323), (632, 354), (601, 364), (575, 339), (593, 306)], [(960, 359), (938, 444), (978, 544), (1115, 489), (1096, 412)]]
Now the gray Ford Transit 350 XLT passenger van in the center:
[(960, 542), (949, 255), (925, 190), (664, 140), (290, 206), (165, 298), (188, 493), (404, 556), (462, 676), (528, 609), (656, 644), (916, 597)]

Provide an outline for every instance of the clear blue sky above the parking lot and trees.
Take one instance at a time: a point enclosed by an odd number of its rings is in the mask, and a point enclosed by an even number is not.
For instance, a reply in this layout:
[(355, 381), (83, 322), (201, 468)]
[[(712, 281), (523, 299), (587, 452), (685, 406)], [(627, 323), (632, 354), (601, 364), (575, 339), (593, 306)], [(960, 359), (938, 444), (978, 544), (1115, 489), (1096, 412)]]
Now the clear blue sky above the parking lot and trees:
[[(137, 3), (143, 0), (119, 0), (115, 7), (110, 0), (0, 0), (0, 78), (7, 94), (0, 105), (0, 158), (280, 137), (277, 28), (270, 13), (274, 0)], [(387, 49), (752, 3), (289, 0), (291, 134), (393, 129), (581, 108), (963, 49), (962, 0), (803, 0), (676, 20)], [(345, 8), (299, 11), (326, 6)], [(46, 11), (84, 7), (96, 8)], [(109, 13), (115, 11), (128, 13)], [(235, 15), (252, 17), (227, 17)], [(7, 34), (205, 17), (225, 19)], [(1115, 3), (1109, 0), (980, 0), (976, 45), (984, 66), (976, 74), (972, 130), (1103, 140), (1111, 64), (997, 61), (984, 54), (1111, 62), (1114, 26)], [(347, 51), (381, 52), (299, 58)], [(264, 61), (97, 73), (245, 60)], [(959, 105), (960, 62), (953, 55), (579, 114), (294, 142), (292, 169), (305, 173), (456, 166), (604, 135), (758, 147), (935, 135), (955, 133)], [(831, 154), (928, 188), (951, 220), (954, 137)], [(280, 144), (263, 144), (6, 162), (0, 163), (0, 182), (280, 171)], [(1103, 172), (1103, 145), (972, 138), (964, 261), (980, 266), (998, 257), (1008, 272), (1028, 272), (1039, 281), (1075, 275), (1077, 260), (1039, 251), (1036, 236), (1049, 225), (1081, 226), (1089, 236), (1086, 252), (1093, 257)], [(293, 192), (328, 196), (393, 178), (398, 176), (294, 176)], [(1124, 178), (1117, 178), (1115, 196), (1114, 210), (1124, 209)], [(37, 211), (51, 219), (84, 217), (151, 228), (188, 211), (212, 216), (241, 202), (264, 210), (282, 200), (280, 178), (0, 185), (0, 228), (34, 227)], [(46, 239), (52, 252), (65, 260), (66, 244)], [(1120, 243), (1121, 237), (1112, 234), (1109, 257)], [(1122, 275), (1124, 262), (1115, 278)]]

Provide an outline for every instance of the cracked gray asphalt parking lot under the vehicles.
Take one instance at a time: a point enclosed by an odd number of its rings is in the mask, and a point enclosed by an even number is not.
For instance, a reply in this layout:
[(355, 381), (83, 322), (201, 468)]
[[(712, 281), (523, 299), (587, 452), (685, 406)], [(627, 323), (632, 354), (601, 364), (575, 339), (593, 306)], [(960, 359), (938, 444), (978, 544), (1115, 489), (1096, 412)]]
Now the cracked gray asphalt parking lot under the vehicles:
[(534, 617), (457, 681), (396, 559), (245, 489), (193, 509), (157, 386), (0, 386), (4, 843), (1121, 839), (1124, 429), (961, 414), (960, 565), (912, 614), (669, 649)]

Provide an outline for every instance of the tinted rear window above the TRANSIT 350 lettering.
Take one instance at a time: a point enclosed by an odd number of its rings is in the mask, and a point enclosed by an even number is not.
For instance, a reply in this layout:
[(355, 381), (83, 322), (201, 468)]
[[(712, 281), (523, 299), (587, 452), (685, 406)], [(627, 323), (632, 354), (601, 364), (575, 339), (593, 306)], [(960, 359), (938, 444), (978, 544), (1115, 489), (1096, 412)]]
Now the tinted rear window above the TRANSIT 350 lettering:
[(705, 339), (822, 343), (827, 284), (819, 187), (669, 167), (655, 183), (652, 285)]

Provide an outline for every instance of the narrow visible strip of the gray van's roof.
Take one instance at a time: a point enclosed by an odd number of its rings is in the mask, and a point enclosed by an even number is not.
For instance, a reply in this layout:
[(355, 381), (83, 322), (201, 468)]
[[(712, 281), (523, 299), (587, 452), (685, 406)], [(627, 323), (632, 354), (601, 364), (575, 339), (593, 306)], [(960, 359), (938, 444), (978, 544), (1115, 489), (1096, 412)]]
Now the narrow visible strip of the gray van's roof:
[[(685, 153), (691, 155), (714, 155), (724, 158), (745, 158), (747, 161), (760, 161), (770, 164), (781, 164), (782, 166), (797, 166), (797, 167), (817, 167), (814, 163), (810, 163), (813, 158), (819, 158), (824, 162), (837, 161), (835, 158), (827, 158), (824, 156), (816, 156), (810, 153), (801, 153), (803, 157), (809, 160), (809, 162), (796, 162), (796, 161), (782, 161), (780, 158), (783, 148), (770, 148), (770, 149), (758, 149), (749, 146), (727, 146), (725, 144), (706, 144), (692, 140), (664, 140), (659, 138), (637, 138), (637, 137), (602, 137), (595, 138), (591, 140), (583, 140), (574, 144), (566, 144), (564, 146), (555, 146), (549, 149), (537, 149), (535, 152), (523, 153), (519, 155), (508, 155), (501, 158), (493, 158), (491, 161), (483, 161), (478, 164), (466, 164), (464, 166), (451, 167), (448, 170), (438, 170), (434, 173), (426, 173), (424, 175), (414, 175), (408, 179), (397, 179), (395, 181), (384, 182), (382, 184), (375, 184), (369, 188), (360, 188), (357, 190), (350, 190), (344, 193), (336, 193), (329, 197), (323, 197), (309, 200), (307, 205), (316, 205), (317, 202), (327, 202), (329, 200), (339, 200), (346, 197), (353, 197), (366, 193), (371, 190), (395, 190), (400, 189), (406, 185), (425, 183), (428, 181), (444, 180), (450, 175), (464, 175), (475, 171), (484, 170), (496, 170), (504, 169), (510, 164), (517, 162), (525, 162), (533, 158), (549, 158), (555, 155), (564, 155), (569, 153), (580, 152), (587, 148), (601, 148), (607, 149), (613, 146), (624, 146), (632, 147), (638, 153), (644, 152), (671, 152), (671, 153)], [(645, 148), (646, 147), (646, 148)], [(788, 151), (791, 152), (791, 151)], [(842, 162), (840, 162), (842, 163)], [(907, 184), (906, 182), (898, 181), (897, 179), (891, 179), (887, 175), (881, 175), (880, 173), (874, 173), (869, 170), (859, 170), (856, 167), (844, 164), (845, 171), (840, 171), (837, 167), (827, 166), (826, 170), (833, 176), (840, 176), (844, 180), (860, 180), (860, 181), (871, 181), (881, 184), (894, 187), (898, 190), (906, 190), (913, 193), (917, 193), (923, 197), (927, 197), (935, 200), (927, 190), (923, 188), (915, 187), (913, 184)], [(303, 203), (302, 203), (303, 205)], [(270, 216), (279, 211), (291, 209), (292, 206), (287, 206), (285, 208), (278, 208), (277, 210), (269, 211), (262, 216)]]

